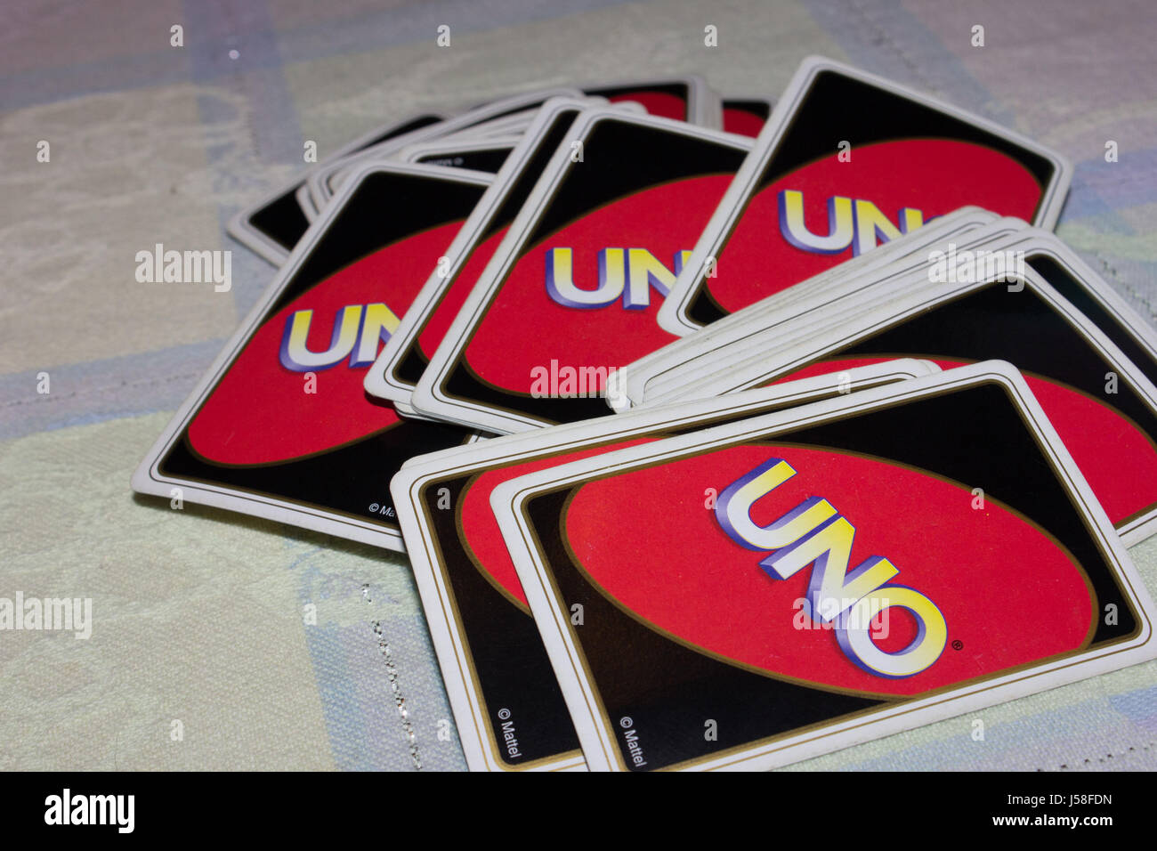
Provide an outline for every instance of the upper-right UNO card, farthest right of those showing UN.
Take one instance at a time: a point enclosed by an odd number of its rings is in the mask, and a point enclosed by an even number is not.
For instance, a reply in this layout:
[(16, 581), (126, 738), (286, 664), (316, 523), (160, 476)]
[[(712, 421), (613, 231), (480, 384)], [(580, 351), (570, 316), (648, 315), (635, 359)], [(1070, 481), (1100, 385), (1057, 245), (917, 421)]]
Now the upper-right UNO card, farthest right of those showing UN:
[(992, 122), (808, 59), (659, 322), (687, 333), (965, 205), (1052, 227), (1070, 173), (1059, 154)]

